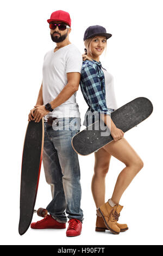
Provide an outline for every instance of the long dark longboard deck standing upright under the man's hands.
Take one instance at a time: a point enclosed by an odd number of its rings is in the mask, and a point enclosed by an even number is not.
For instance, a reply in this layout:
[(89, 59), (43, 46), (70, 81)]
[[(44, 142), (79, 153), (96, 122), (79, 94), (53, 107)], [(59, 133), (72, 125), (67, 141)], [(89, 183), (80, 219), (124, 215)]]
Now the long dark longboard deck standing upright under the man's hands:
[(39, 123), (29, 121), (24, 139), (22, 156), (20, 221), (18, 225), (18, 232), (20, 235), (26, 233), (32, 222), (40, 178), (43, 139), (43, 118)]

